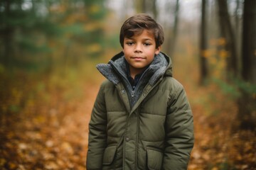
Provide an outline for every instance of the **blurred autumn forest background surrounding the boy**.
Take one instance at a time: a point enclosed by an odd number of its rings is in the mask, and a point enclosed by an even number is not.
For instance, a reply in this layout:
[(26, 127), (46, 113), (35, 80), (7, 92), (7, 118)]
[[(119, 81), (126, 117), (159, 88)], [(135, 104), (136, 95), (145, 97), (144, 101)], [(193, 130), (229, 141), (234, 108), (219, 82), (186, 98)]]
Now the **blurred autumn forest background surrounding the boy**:
[(85, 169), (88, 121), (122, 50), (119, 28), (149, 13), (188, 94), (188, 169), (256, 169), (255, 0), (0, 1), (0, 169)]

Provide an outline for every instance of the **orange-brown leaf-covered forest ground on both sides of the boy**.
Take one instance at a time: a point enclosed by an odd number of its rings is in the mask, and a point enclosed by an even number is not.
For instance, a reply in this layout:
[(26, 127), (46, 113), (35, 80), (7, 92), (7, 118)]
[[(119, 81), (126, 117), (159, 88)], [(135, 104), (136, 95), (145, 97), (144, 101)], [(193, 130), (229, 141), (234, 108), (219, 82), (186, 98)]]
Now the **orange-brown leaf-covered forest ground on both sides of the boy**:
[[(78, 83), (72, 75), (68, 83), (1, 76), (0, 169), (85, 169), (88, 121), (101, 79)], [(233, 128), (235, 101), (216, 86), (184, 86), (196, 136), (188, 169), (256, 169), (256, 135)]]

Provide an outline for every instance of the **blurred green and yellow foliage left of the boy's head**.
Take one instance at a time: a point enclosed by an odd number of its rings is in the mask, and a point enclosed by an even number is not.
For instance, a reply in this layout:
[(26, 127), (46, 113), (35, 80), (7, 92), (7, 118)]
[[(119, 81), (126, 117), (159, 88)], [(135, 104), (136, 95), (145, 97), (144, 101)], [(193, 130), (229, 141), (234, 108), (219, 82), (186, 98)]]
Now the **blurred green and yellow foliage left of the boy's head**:
[(0, 1), (0, 63), (5, 69), (50, 71), (58, 64), (102, 55), (104, 3)]

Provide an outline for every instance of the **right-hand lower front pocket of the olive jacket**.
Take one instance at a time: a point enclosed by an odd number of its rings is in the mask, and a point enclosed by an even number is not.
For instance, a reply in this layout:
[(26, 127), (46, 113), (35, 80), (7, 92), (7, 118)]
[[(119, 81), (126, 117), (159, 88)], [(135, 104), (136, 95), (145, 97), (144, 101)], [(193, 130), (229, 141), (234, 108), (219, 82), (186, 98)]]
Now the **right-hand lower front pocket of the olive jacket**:
[(149, 170), (160, 170), (163, 162), (163, 153), (154, 148), (146, 149), (147, 166)]

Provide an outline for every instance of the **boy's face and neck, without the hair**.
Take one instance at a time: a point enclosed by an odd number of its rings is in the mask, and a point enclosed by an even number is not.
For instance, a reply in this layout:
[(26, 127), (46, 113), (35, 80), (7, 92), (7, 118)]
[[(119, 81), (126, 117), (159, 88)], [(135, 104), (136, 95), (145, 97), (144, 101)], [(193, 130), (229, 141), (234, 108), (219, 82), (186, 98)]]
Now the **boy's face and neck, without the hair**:
[(160, 47), (156, 48), (154, 34), (150, 30), (143, 30), (139, 35), (124, 38), (123, 52), (129, 63), (130, 74), (134, 77), (154, 60), (154, 55), (159, 54)]

